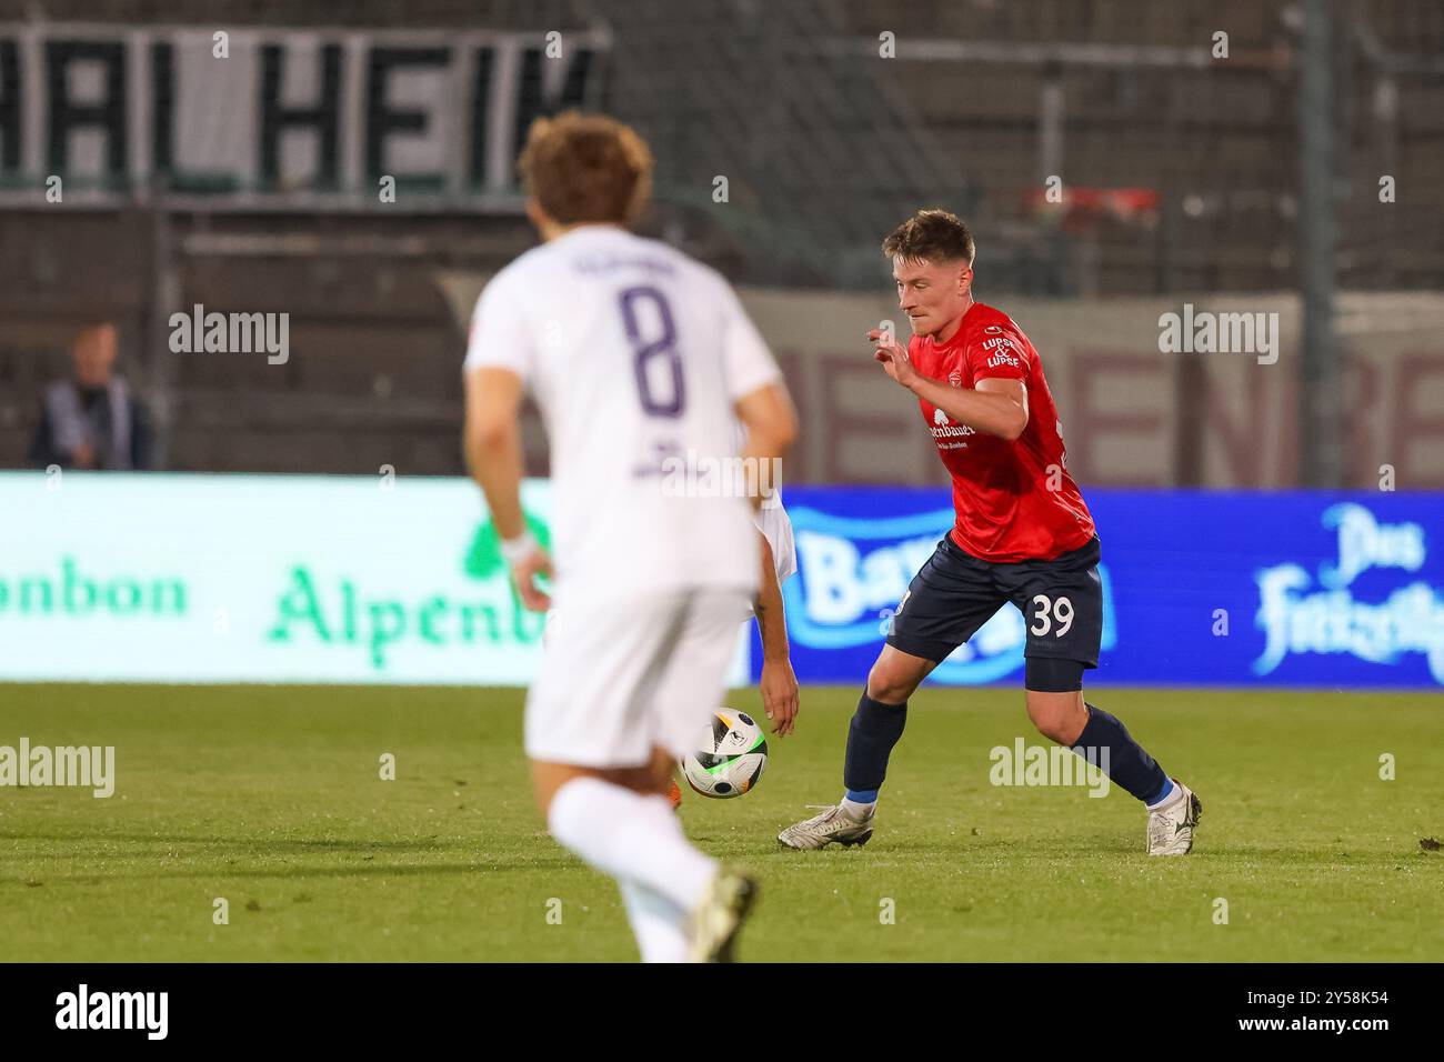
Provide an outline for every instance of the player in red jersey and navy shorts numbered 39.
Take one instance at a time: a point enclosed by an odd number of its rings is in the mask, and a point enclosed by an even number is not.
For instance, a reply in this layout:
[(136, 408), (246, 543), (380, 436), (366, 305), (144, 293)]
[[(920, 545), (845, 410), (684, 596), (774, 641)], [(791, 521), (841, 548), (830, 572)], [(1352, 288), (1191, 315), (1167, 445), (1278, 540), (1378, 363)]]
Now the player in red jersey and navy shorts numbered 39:
[(1097, 666), (1099, 539), (1069, 475), (1063, 429), (1038, 351), (1004, 312), (973, 299), (973, 237), (924, 210), (882, 241), (913, 338), (872, 329), (875, 358), (917, 396), (953, 480), (956, 522), (913, 578), (848, 730), (846, 795), (778, 834), (790, 848), (872, 838), (888, 754), (907, 701), (933, 668), (1009, 601), (1027, 620), (1025, 695), (1038, 731), (1083, 756), (1148, 809), (1148, 852), (1193, 848), (1199, 798), (1083, 699)]

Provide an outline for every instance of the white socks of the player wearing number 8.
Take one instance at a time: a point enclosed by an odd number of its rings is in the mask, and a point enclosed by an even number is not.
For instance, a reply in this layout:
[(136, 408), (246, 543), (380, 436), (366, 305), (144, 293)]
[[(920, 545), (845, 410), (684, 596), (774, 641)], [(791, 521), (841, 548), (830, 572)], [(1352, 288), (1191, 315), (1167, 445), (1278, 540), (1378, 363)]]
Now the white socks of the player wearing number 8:
[(552, 798), (547, 826), (566, 848), (617, 878), (644, 961), (686, 958), (687, 913), (702, 902), (718, 864), (692, 847), (667, 798), (578, 777)]

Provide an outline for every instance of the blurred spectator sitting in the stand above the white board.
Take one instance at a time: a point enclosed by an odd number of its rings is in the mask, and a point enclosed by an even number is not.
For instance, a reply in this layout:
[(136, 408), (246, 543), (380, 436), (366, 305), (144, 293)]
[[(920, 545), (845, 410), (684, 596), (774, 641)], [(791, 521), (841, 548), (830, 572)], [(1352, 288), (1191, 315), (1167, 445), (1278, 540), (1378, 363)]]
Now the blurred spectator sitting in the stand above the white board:
[(90, 325), (71, 350), (75, 377), (45, 389), (29, 461), (46, 468), (149, 468), (150, 423), (114, 373), (118, 340), (110, 322)]

